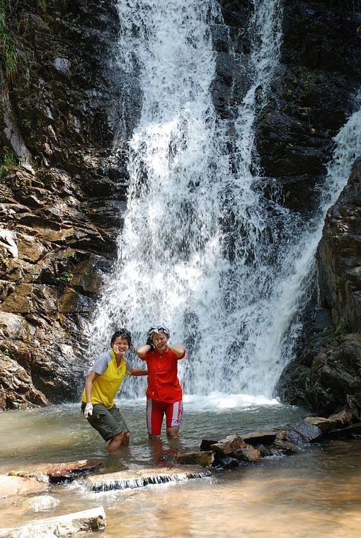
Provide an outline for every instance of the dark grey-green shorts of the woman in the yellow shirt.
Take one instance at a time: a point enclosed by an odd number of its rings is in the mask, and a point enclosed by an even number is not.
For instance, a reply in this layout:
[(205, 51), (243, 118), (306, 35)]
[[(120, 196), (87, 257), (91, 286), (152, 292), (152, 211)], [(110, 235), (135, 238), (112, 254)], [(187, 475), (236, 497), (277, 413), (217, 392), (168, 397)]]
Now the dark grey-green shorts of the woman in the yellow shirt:
[[(81, 404), (81, 411), (84, 411), (86, 404)], [(86, 420), (93, 426), (94, 430), (99, 432), (103, 437), (103, 440), (110, 441), (117, 433), (127, 433), (129, 428), (124, 418), (122, 418), (117, 406), (113, 406), (107, 409), (103, 404), (93, 405), (93, 415), (89, 416)]]

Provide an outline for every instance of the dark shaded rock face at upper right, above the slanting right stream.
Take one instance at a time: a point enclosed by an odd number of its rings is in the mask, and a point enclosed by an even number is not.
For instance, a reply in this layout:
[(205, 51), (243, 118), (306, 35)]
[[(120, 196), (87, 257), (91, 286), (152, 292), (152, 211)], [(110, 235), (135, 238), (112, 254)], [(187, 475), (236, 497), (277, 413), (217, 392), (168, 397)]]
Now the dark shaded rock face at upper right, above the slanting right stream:
[(282, 205), (305, 218), (319, 203), (317, 186), (323, 183), (332, 137), (352, 112), (351, 96), (360, 86), (359, 25), (360, 13), (351, 3), (283, 4), (280, 64), (265, 88), (256, 144), (264, 175), (280, 187)]

